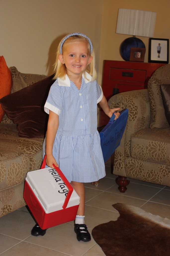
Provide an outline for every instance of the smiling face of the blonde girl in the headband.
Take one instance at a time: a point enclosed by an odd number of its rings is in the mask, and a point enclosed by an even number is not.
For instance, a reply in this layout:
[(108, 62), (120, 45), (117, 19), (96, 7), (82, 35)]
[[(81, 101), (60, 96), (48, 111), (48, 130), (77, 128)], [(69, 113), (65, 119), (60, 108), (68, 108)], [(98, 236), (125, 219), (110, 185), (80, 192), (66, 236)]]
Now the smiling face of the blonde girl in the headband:
[(92, 56), (89, 56), (88, 42), (85, 40), (74, 40), (70, 42), (63, 54), (59, 55), (59, 60), (66, 65), (69, 77), (80, 75), (89, 65)]

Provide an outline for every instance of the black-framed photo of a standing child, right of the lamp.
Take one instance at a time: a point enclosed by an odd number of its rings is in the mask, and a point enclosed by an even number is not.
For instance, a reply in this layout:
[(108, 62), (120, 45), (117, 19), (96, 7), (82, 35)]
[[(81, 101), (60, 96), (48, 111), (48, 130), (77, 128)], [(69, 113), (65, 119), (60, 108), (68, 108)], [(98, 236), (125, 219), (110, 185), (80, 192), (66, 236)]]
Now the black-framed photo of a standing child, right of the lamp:
[(149, 38), (148, 62), (169, 62), (169, 39)]

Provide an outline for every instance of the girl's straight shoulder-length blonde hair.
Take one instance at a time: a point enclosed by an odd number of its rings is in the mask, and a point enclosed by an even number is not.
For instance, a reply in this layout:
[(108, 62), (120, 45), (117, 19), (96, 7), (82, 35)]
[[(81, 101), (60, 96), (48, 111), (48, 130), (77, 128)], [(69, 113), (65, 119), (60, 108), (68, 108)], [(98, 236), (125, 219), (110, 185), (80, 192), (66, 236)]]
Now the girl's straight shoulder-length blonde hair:
[[(63, 41), (63, 39), (61, 40), (61, 42)], [(92, 61), (90, 62), (90, 64), (86, 67), (85, 71), (87, 73), (89, 73), (91, 76), (92, 76), (92, 81), (95, 80), (97, 78), (97, 72), (96, 72), (96, 61), (95, 61), (95, 53), (94, 53), (94, 49), (92, 50), (91, 52), (91, 48), (90, 48), (90, 44), (89, 44), (89, 41), (87, 38), (83, 37), (83, 36), (80, 36), (80, 35), (74, 35), (74, 36), (70, 36), (68, 37), (63, 45), (62, 45), (62, 53), (65, 51), (66, 47), (70, 44), (72, 44), (73, 41), (85, 41), (87, 43), (87, 47), (88, 47), (88, 55), (89, 57), (92, 56), (93, 59)], [(55, 72), (55, 76), (53, 79), (57, 79), (58, 77), (61, 78), (61, 79), (65, 79), (66, 77), (66, 72), (67, 72), (67, 69), (66, 69), (66, 66), (65, 64), (62, 64), (59, 60), (59, 55), (60, 55), (60, 45), (61, 45), (61, 42), (60, 44), (58, 45), (58, 48), (57, 48), (57, 54), (56, 54), (56, 62), (54, 63), (54, 72)], [(90, 54), (91, 52), (91, 54)], [(85, 75), (85, 71), (83, 72), (84, 73), (84, 76), (86, 78), (86, 75)], [(87, 79), (87, 78), (86, 78)]]

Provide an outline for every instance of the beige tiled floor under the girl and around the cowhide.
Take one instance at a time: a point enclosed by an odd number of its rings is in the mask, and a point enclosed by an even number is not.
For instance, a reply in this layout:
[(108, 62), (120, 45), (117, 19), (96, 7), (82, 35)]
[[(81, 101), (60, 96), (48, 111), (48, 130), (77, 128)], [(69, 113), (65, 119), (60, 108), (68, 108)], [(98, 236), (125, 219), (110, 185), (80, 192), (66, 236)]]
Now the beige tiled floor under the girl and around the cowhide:
[[(98, 187), (85, 184), (85, 223), (90, 233), (95, 226), (119, 217), (112, 207), (117, 202), (141, 207), (154, 215), (170, 219), (170, 187), (130, 179), (127, 191), (120, 193), (115, 184), (116, 176), (111, 174), (109, 161), (106, 173)], [(105, 255), (93, 237), (87, 243), (76, 240), (73, 221), (48, 229), (43, 237), (31, 236), (34, 224), (26, 207), (0, 218), (0, 255)]]

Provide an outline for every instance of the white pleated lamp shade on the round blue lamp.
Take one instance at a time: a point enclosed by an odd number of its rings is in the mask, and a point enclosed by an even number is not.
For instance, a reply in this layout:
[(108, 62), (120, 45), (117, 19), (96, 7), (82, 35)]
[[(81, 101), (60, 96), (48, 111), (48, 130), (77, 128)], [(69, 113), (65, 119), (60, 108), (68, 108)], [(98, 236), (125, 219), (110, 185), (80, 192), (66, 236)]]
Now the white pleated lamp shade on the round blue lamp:
[(119, 9), (116, 33), (131, 36), (153, 37), (155, 22), (155, 12)]

